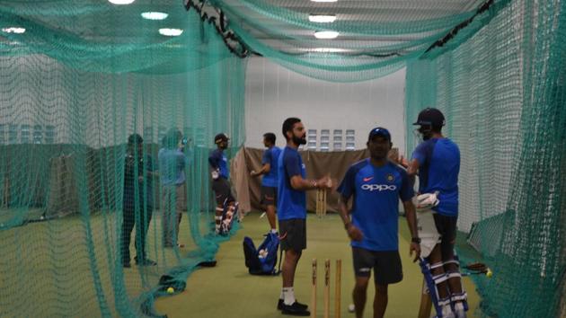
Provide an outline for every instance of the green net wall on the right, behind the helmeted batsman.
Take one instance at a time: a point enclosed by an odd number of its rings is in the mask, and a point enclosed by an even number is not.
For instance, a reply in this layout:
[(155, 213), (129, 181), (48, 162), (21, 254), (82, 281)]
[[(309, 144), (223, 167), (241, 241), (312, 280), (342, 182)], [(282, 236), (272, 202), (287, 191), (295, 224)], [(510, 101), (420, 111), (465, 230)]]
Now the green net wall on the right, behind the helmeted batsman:
[[(407, 128), (447, 115), (460, 146), (459, 227), (494, 272), (483, 314), (559, 316), (566, 259), (566, 4), (513, 1), (459, 47), (407, 67)], [(431, 52), (432, 53), (432, 52)], [(407, 151), (415, 140), (407, 140)], [(563, 312), (562, 312), (563, 313)]]

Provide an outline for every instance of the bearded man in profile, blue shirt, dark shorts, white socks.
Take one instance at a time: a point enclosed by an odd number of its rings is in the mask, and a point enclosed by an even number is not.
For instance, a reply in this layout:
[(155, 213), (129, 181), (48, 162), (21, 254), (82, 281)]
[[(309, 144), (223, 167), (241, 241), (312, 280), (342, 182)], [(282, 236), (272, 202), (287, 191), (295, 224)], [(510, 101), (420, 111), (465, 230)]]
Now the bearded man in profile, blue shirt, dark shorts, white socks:
[(308, 306), (296, 301), (293, 290), (296, 264), (306, 248), (305, 190), (330, 189), (332, 181), (328, 177), (319, 180), (305, 179), (305, 163), (297, 151), (298, 146), (306, 144), (306, 130), (301, 119), (285, 119), (282, 130), (287, 146), (279, 155), (277, 215), (281, 249), (285, 251), (285, 259), (278, 309), (282, 314), (308, 316)]

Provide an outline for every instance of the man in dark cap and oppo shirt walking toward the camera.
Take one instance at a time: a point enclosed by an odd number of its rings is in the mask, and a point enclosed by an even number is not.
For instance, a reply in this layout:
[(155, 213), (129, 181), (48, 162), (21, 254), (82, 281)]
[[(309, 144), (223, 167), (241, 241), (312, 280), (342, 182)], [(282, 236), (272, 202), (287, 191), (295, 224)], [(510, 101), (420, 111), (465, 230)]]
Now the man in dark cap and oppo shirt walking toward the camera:
[[(399, 199), (402, 200), (411, 231), (409, 252), (420, 256), (414, 192), (407, 173), (387, 160), (393, 144), (385, 128), (374, 128), (367, 138), (370, 158), (349, 167), (338, 191), (339, 211), (351, 240), (356, 286), (352, 292), (356, 317), (366, 305), (367, 284), (374, 269), (376, 296), (374, 317), (383, 317), (387, 307), (387, 287), (402, 280), (399, 257)], [(351, 220), (348, 201), (352, 198)]]

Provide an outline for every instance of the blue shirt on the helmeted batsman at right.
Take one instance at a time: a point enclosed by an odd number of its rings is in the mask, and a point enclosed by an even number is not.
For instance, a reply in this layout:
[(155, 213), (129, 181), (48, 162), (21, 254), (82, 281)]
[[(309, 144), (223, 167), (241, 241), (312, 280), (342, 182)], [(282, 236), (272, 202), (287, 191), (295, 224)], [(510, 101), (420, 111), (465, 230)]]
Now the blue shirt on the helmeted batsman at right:
[(448, 138), (431, 138), (412, 153), (419, 162), (419, 192), (438, 191), (440, 203), (433, 208), (444, 216), (458, 215), (460, 149)]

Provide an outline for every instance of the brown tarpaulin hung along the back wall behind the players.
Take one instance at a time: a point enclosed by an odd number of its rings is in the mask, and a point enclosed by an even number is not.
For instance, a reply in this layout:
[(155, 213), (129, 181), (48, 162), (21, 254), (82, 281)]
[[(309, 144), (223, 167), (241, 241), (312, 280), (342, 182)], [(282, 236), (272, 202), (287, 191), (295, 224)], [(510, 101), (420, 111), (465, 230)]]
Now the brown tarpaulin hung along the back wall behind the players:
[[(240, 208), (247, 212), (251, 209), (261, 210), (260, 187), (261, 177), (250, 177), (252, 170), (261, 169), (261, 156), (264, 149), (242, 148), (234, 157), (232, 163), (234, 190), (240, 202)], [(344, 174), (352, 163), (356, 163), (363, 158), (367, 158), (367, 150), (342, 151), (342, 152), (301, 152), (303, 162), (306, 166), (306, 177), (308, 179), (322, 178), (330, 173), (335, 181), (342, 181)], [(306, 209), (314, 211), (316, 209), (316, 191), (307, 191)], [(329, 192), (327, 194), (327, 210), (329, 212), (338, 211), (338, 194)]]

